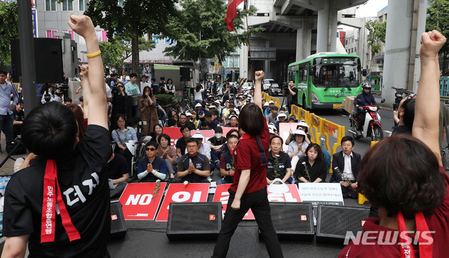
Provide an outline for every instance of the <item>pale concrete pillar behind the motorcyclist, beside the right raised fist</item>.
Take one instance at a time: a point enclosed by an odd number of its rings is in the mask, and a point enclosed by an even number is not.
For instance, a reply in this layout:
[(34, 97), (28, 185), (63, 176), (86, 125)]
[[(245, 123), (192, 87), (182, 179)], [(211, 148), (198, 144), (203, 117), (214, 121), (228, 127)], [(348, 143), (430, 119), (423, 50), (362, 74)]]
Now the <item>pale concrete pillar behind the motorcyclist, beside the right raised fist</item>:
[(407, 86), (413, 1), (388, 1), (384, 88), (382, 88), (382, 97), (385, 98), (387, 105), (394, 103), (395, 90), (391, 89), (391, 86), (396, 88)]

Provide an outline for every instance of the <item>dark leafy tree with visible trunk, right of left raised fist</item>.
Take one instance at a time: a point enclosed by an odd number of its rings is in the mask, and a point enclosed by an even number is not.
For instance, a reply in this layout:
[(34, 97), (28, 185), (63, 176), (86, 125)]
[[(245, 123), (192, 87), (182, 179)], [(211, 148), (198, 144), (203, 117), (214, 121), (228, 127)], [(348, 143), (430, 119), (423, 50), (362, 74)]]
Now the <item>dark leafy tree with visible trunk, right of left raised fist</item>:
[(94, 25), (107, 30), (109, 39), (114, 34), (129, 38), (132, 70), (139, 72), (139, 39), (149, 34), (168, 34), (166, 25), (177, 15), (176, 0), (91, 0), (84, 14), (90, 16)]

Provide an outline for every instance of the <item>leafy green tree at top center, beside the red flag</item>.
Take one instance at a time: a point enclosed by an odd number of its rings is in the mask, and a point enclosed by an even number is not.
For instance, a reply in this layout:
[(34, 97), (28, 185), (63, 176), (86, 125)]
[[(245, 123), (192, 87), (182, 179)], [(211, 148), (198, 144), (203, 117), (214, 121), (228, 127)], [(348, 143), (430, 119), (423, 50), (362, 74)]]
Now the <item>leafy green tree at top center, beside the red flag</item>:
[[(234, 32), (229, 32), (225, 23), (227, 6), (223, 0), (182, 0), (180, 6), (179, 16), (168, 25), (177, 43), (164, 50), (167, 55), (200, 62), (203, 58), (217, 57), (222, 62), (241, 43), (248, 43), (249, 35), (243, 26), (245, 13), (237, 12)], [(249, 13), (254, 12), (255, 8), (250, 8)], [(257, 34), (262, 30), (262, 27), (250, 27), (249, 32)]]

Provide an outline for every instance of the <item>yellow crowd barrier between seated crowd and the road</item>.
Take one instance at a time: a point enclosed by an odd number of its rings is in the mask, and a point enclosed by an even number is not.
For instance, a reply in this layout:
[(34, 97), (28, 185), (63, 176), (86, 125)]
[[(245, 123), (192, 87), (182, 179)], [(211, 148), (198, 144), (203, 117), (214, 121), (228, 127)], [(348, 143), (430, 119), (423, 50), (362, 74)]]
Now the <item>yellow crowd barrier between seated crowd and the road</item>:
[[(290, 109), (290, 116), (292, 115), (296, 116), (298, 120), (302, 119), (306, 121), (309, 125), (309, 134), (311, 135), (312, 142), (319, 143), (319, 138), (324, 136), (326, 149), (328, 149), (330, 156), (337, 152), (337, 147), (340, 146), (342, 137), (344, 137), (344, 126), (337, 125), (295, 105), (292, 105)], [(332, 148), (329, 146), (329, 137), (334, 137), (337, 140)], [(329, 172), (332, 173), (332, 169)]]

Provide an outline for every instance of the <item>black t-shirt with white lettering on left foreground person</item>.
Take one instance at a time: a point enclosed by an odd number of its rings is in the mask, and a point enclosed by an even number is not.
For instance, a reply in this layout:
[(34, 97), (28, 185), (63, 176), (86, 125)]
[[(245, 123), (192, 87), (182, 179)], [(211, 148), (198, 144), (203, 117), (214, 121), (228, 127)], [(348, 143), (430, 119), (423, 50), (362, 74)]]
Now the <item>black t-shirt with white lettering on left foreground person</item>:
[(57, 213), (55, 241), (41, 243), (46, 159), (39, 157), (15, 173), (6, 187), (4, 236), (29, 234), (29, 257), (104, 257), (111, 224), (106, 173), (112, 154), (109, 142), (108, 130), (88, 125), (84, 139), (56, 161), (62, 199), (81, 239), (69, 241)]

